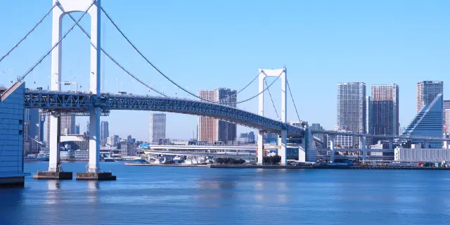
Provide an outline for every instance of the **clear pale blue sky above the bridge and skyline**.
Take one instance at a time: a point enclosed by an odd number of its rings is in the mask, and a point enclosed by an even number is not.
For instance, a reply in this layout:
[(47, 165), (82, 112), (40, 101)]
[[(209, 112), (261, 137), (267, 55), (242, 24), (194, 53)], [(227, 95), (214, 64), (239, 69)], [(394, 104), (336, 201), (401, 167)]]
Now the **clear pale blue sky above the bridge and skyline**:
[[(51, 0), (0, 1), (1, 55), (51, 4)], [(301, 119), (320, 122), (326, 129), (336, 123), (338, 82), (366, 82), (368, 93), (371, 84), (399, 84), (401, 126), (415, 115), (416, 82), (443, 80), (444, 96), (450, 91), (450, 1), (103, 0), (103, 7), (153, 63), (191, 91), (240, 89), (258, 68), (286, 65)], [(102, 19), (103, 48), (134, 74), (174, 96), (177, 89)], [(89, 29), (89, 18), (82, 22)], [(66, 18), (65, 29), (70, 25)], [(75, 29), (63, 44), (63, 80), (77, 81), (87, 90), (89, 40)], [(0, 82), (8, 84), (22, 75), (50, 47), (51, 19), (47, 18), (23, 46), (0, 63), (0, 71), (11, 68)], [(106, 91), (115, 92), (122, 86), (124, 91), (148, 94), (108, 59), (104, 62)], [(46, 88), (49, 75), (50, 58), (27, 77), (27, 86)], [(279, 112), (279, 82), (271, 91)], [(254, 94), (256, 83), (238, 100)], [(288, 120), (297, 120), (288, 100)], [(266, 115), (276, 117), (269, 98), (265, 104)], [(257, 99), (240, 108), (256, 113)], [(113, 112), (102, 119), (110, 122), (110, 134), (147, 140), (148, 114)], [(86, 117), (77, 122), (84, 127)], [(195, 116), (169, 114), (167, 137), (188, 139), (196, 124)], [(239, 127), (238, 131), (249, 129)]]

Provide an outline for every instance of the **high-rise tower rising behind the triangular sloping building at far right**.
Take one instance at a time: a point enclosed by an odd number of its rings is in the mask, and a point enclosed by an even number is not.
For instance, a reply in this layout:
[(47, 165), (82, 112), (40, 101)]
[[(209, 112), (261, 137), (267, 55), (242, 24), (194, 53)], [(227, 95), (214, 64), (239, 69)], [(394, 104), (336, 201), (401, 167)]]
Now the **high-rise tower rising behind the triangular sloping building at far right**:
[(423, 81), (417, 83), (417, 113), (444, 93), (444, 82)]

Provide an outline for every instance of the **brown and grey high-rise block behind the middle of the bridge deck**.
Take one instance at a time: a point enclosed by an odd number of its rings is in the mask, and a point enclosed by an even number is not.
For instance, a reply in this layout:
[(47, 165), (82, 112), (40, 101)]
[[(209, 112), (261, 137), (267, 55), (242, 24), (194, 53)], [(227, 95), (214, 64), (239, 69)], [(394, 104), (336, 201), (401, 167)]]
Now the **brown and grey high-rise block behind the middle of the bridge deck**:
[[(207, 101), (223, 103), (236, 107), (237, 91), (225, 88), (215, 90), (200, 90), (200, 98)], [(236, 139), (236, 124), (217, 120), (211, 117), (198, 117), (198, 141), (234, 141)]]

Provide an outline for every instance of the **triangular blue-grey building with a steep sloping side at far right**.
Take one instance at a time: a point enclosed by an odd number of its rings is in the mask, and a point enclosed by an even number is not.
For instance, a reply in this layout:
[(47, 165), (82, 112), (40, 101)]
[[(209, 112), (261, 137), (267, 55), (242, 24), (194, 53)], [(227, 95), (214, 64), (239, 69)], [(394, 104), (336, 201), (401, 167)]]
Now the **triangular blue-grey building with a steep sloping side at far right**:
[[(442, 94), (438, 94), (430, 104), (425, 105), (406, 127), (404, 136), (442, 137), (443, 126)], [(423, 144), (424, 141), (414, 141)], [(429, 141), (430, 148), (442, 148), (442, 141)]]

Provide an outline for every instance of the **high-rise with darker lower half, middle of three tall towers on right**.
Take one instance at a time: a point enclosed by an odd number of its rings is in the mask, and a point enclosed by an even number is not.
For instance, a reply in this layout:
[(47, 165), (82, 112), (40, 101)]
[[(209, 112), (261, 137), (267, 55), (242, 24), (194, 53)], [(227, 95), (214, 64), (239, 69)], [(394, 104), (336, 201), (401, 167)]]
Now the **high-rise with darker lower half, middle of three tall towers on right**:
[[(399, 86), (381, 84), (371, 86), (372, 133), (399, 135)], [(377, 142), (378, 139), (373, 139)]]

